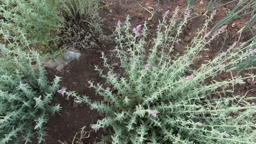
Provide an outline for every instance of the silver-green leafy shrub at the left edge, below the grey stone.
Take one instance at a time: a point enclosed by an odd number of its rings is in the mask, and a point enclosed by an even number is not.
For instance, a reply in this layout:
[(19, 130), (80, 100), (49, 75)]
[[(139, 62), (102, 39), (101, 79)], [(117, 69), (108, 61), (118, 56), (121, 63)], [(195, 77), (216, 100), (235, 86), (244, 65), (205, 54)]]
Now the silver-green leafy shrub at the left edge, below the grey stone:
[(35, 134), (42, 142), (48, 115), (60, 110), (50, 105), (60, 78), (50, 85), (39, 54), (19, 47), (1, 46), (0, 67), (0, 143), (28, 143)]

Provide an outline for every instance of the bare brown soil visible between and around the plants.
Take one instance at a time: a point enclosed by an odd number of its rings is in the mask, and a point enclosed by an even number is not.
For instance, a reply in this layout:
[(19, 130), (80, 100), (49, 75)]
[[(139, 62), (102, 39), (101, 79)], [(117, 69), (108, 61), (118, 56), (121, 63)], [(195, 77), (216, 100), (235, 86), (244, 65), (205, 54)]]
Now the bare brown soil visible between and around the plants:
[[(138, 1), (141, 5), (156, 7), (156, 2), (154, 0), (141, 0)], [(198, 3), (194, 8), (203, 9), (208, 1), (203, 1), (203, 4)], [(135, 0), (102, 0), (101, 1), (102, 8), (100, 10), (100, 14), (104, 19), (103, 23), (103, 31), (104, 34), (110, 35), (115, 29), (118, 20), (124, 21), (127, 15), (131, 17), (132, 26), (136, 26), (144, 23), (145, 20), (148, 21), (148, 17), (150, 14), (139, 7), (138, 3)], [(154, 16), (153, 20), (148, 21), (149, 30), (151, 37), (154, 36), (154, 29), (158, 25), (158, 20), (161, 20), (161, 15), (165, 13), (165, 11), (170, 10), (170, 12), (174, 11), (176, 7), (180, 7), (181, 10), (185, 9), (185, 0), (183, 1), (173, 1), (173, 0), (164, 0), (160, 2), (159, 12)], [(236, 3), (228, 5), (226, 8), (219, 8), (219, 12), (216, 18), (213, 21), (217, 23), (222, 17), (225, 16), (225, 11), (232, 9), (235, 7)], [(147, 7), (146, 6), (146, 7)], [(249, 17), (243, 17), (243, 19), (249, 19)], [(181, 45), (176, 47), (177, 52), (182, 53), (185, 50), (185, 45), (190, 43), (190, 39), (193, 39), (194, 34), (197, 32), (197, 29), (200, 29), (203, 25), (205, 17), (199, 16), (195, 19), (189, 21), (188, 27), (184, 30), (185, 32), (182, 35), (182, 43)], [(238, 39), (239, 35), (236, 34), (238, 29), (240, 29), (245, 23), (240, 20), (235, 21), (237, 26), (235, 28), (231, 27), (231, 24), (228, 25), (228, 41), (226, 43), (226, 47), (234, 43), (235, 40)], [(251, 38), (251, 34), (249, 32), (245, 32), (242, 34), (240, 41), (243, 42), (247, 39)], [(204, 61), (213, 58), (219, 52), (219, 49), (224, 41), (224, 35), (220, 35), (216, 41), (209, 47), (208, 51), (202, 52), (202, 58), (198, 59), (195, 67), (199, 67)], [(82, 53), (79, 61), (74, 61), (71, 64), (67, 65), (62, 72), (48, 70), (49, 78), (52, 80), (54, 75), (61, 76), (62, 81), (60, 83), (61, 87), (67, 87), (68, 91), (76, 91), (77, 93), (84, 95), (86, 94), (93, 100), (100, 101), (101, 98), (98, 97), (93, 89), (88, 87), (88, 80), (95, 81), (98, 83), (104, 83), (104, 80), (98, 76), (97, 71), (94, 70), (94, 65), (102, 65), (101, 51), (107, 53), (110, 63), (115, 63), (117, 61), (114, 58), (114, 44), (111, 41), (107, 43), (100, 44), (101, 49), (98, 51), (88, 51), (86, 53)], [(225, 50), (225, 49), (224, 49)], [(247, 71), (242, 74), (246, 74)], [(253, 72), (252, 72), (253, 73)], [(255, 71), (254, 71), (255, 74)], [(233, 73), (233, 76), (235, 72)], [(219, 80), (231, 79), (230, 73), (222, 75), (218, 77)], [(249, 89), (255, 88), (255, 86), (246, 83), (242, 86), (236, 86), (238, 94), (245, 94)], [(255, 93), (248, 93), (248, 95), (252, 95)], [(65, 100), (65, 97), (62, 97), (60, 94), (56, 94), (54, 96), (54, 103), (60, 104), (62, 110), (59, 113), (56, 113), (54, 116), (50, 117), (48, 124), (46, 125), (46, 131), (48, 136), (45, 137), (45, 142), (47, 144), (56, 144), (62, 142), (66, 142), (67, 144), (71, 144), (75, 133), (80, 131), (80, 128), (86, 126), (85, 131), (90, 131), (90, 137), (88, 139), (84, 139), (84, 143), (94, 143), (96, 140), (100, 139), (100, 136), (103, 134), (108, 134), (107, 130), (97, 131), (95, 133), (90, 129), (90, 124), (96, 123), (97, 119), (101, 118), (98, 116), (96, 111), (91, 111), (86, 105), (79, 105), (77, 108), (73, 108), (73, 99)]]

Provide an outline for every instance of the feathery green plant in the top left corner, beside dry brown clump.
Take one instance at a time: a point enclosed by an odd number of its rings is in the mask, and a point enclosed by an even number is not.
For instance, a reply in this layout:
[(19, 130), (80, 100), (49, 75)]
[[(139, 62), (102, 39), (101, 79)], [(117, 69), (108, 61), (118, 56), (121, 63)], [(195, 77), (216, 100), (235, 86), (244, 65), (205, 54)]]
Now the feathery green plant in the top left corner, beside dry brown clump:
[[(42, 53), (57, 51), (63, 19), (46, 0), (0, 1), (0, 34), (6, 45), (29, 45)], [(14, 46), (15, 47), (15, 46)]]

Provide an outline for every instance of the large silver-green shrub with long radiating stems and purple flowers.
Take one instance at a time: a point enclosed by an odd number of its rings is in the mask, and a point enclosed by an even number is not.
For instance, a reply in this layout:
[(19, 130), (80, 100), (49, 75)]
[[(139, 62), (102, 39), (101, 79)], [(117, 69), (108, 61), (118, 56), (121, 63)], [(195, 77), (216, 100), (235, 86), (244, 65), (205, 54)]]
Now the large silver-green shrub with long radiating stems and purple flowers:
[[(115, 30), (117, 58), (122, 74), (116, 74), (103, 55), (108, 73), (96, 67), (107, 81), (108, 87), (90, 82), (104, 101), (91, 101), (88, 97), (74, 96), (79, 103), (87, 103), (104, 116), (92, 125), (98, 130), (112, 127), (113, 134), (101, 143), (255, 143), (255, 110), (252, 101), (243, 96), (231, 97), (230, 85), (241, 84), (247, 78), (234, 76), (218, 81), (217, 75), (225, 68), (255, 54), (255, 40), (240, 46), (230, 46), (210, 61), (202, 62), (199, 69), (192, 69), (193, 59), (207, 50), (226, 26), (208, 33), (214, 13), (208, 17), (202, 29), (186, 47), (184, 55), (170, 55), (178, 45), (182, 27), (190, 17), (190, 11), (177, 25), (177, 10), (168, 19), (167, 14), (159, 22), (156, 38), (146, 41), (147, 26), (139, 31), (133, 28), (129, 18)], [(254, 37), (255, 39), (255, 37)], [(150, 52), (145, 51), (150, 47)], [(208, 81), (208, 82), (207, 82)]]

